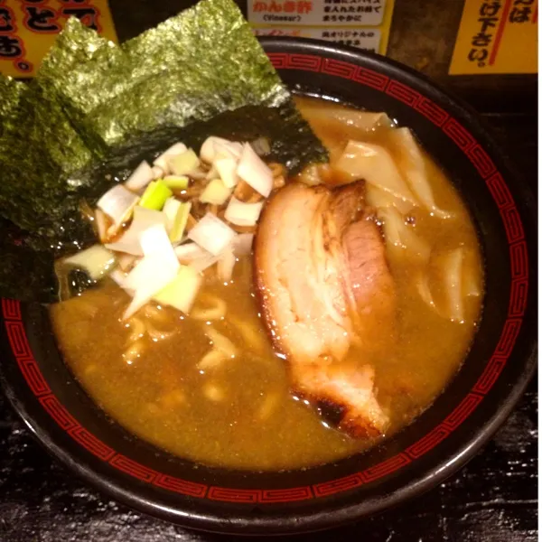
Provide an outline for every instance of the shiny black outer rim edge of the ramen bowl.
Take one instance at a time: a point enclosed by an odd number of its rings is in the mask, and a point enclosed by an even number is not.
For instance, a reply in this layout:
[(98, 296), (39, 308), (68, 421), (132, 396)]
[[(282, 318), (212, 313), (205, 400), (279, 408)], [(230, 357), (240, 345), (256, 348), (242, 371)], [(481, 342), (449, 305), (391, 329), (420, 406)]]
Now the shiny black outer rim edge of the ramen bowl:
[[(301, 55), (313, 54), (315, 56), (326, 57), (341, 53), (345, 59), (349, 59), (352, 63), (363, 61), (365, 66), (373, 67), (376, 71), (381, 66), (384, 66), (386, 73), (391, 71), (391, 74), (397, 73), (401, 79), (416, 79), (417, 84), (423, 83), (424, 86), (430, 88), (433, 93), (437, 93), (441, 97), (446, 98), (451, 104), (463, 110), (461, 117), (469, 129), (476, 135), (476, 138), (481, 141), (484, 148), (488, 148), (491, 154), (499, 154), (497, 146), (493, 143), (493, 138), (488, 134), (485, 127), (481, 124), (478, 114), (472, 110), (472, 107), (464, 104), (460, 99), (452, 97), (444, 89), (441, 89), (435, 82), (425, 78), (422, 74), (412, 70), (396, 61), (390, 61), (385, 57), (376, 54), (363, 52), (346, 46), (338, 46), (329, 42), (318, 40), (309, 40), (304, 38), (261, 38), (260, 42), (266, 49), (286, 49), (297, 50)], [(301, 69), (301, 68), (300, 68)], [(524, 182), (517, 182), (517, 174), (514, 168), (510, 167), (506, 161), (502, 170), (506, 173), (507, 178), (516, 181), (518, 188), (523, 191), (525, 198), (532, 199), (532, 194), (528, 190)], [(525, 217), (524, 217), (525, 218)], [(533, 220), (532, 217), (528, 217)], [(530, 265), (533, 266), (534, 254), (529, 250)], [(533, 283), (531, 283), (532, 285)], [(536, 289), (536, 285), (535, 285)], [(532, 295), (532, 294), (531, 294)], [(87, 481), (99, 491), (105, 491), (112, 495), (115, 499), (133, 507), (134, 509), (143, 510), (152, 516), (158, 516), (163, 519), (170, 519), (175, 522), (182, 522), (183, 525), (191, 528), (199, 528), (203, 530), (212, 530), (213, 532), (229, 532), (229, 533), (259, 533), (259, 534), (284, 534), (291, 532), (306, 532), (309, 530), (319, 530), (322, 528), (330, 528), (340, 525), (360, 517), (378, 513), (384, 509), (389, 509), (397, 506), (400, 502), (413, 498), (421, 494), (436, 484), (443, 481), (446, 477), (456, 472), (465, 463), (467, 463), (473, 455), (481, 449), (499, 426), (506, 420), (512, 408), (521, 397), (523, 391), (528, 385), (528, 382), (537, 365), (536, 359), (536, 339), (529, 338), (528, 356), (526, 356), (525, 367), (521, 372), (520, 377), (513, 383), (512, 387), (506, 395), (506, 400), (495, 412), (495, 414), (485, 420), (481, 424), (481, 429), (477, 435), (473, 435), (470, 440), (465, 440), (459, 448), (455, 448), (453, 460), (442, 465), (441, 468), (432, 472), (424, 472), (423, 475), (415, 476), (414, 481), (407, 487), (401, 488), (378, 500), (370, 500), (368, 502), (355, 502), (347, 505), (341, 505), (339, 509), (332, 511), (324, 509), (322, 511), (307, 513), (304, 517), (281, 517), (281, 518), (253, 518), (250, 520), (250, 525), (238, 524), (235, 521), (225, 523), (224, 519), (212, 514), (194, 514), (192, 512), (185, 513), (180, 509), (169, 509), (168, 507), (157, 506), (155, 502), (150, 502), (145, 497), (136, 494), (134, 491), (126, 490), (120, 484), (116, 484), (107, 480), (107, 477), (89, 468), (88, 464), (82, 464), (78, 460), (77, 454), (70, 453), (60, 444), (55, 442), (55, 439), (46, 431), (42, 425), (35, 419), (32, 412), (24, 405), (20, 397), (16, 397), (14, 388), (5, 379), (5, 374), (0, 367), (0, 379), (4, 385), (6, 396), (13, 404), (19, 416), (23, 418), (24, 423), (31, 429), (33, 435), (46, 447), (46, 449), (55, 457), (59, 458), (62, 463), (77, 472), (77, 474)], [(485, 419), (485, 418), (484, 418)]]

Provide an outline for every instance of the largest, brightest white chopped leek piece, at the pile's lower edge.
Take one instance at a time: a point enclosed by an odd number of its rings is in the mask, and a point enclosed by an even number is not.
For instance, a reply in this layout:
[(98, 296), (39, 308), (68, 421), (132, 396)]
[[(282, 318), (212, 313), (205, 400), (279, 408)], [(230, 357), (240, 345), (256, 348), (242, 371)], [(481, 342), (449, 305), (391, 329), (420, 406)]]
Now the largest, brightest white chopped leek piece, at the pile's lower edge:
[(140, 235), (145, 257), (126, 276), (125, 287), (134, 290), (123, 319), (130, 318), (153, 296), (170, 284), (180, 269), (164, 224), (145, 229)]

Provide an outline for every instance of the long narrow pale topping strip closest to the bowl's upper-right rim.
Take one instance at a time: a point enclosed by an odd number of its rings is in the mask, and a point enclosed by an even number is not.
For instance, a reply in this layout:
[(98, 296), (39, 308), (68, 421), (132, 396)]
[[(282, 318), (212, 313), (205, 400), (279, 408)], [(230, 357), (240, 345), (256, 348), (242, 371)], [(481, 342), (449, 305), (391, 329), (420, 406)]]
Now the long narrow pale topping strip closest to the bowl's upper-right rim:
[(424, 156), (416, 139), (408, 128), (397, 128), (389, 133), (389, 138), (395, 145), (398, 168), (403, 172), (410, 190), (416, 198), (436, 216), (442, 219), (450, 218), (450, 213), (439, 209), (435, 204), (433, 190), (425, 171)]

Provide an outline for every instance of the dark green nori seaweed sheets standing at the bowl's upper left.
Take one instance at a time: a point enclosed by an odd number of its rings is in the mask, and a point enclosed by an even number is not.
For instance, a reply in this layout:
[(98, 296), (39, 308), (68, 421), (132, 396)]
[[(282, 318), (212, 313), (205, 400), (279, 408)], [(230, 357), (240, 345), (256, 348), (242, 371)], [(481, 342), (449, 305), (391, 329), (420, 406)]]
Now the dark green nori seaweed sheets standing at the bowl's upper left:
[(53, 259), (94, 242), (80, 202), (208, 135), (266, 136), (291, 173), (328, 159), (232, 0), (121, 46), (71, 18), (36, 79), (0, 77), (0, 295), (56, 300)]

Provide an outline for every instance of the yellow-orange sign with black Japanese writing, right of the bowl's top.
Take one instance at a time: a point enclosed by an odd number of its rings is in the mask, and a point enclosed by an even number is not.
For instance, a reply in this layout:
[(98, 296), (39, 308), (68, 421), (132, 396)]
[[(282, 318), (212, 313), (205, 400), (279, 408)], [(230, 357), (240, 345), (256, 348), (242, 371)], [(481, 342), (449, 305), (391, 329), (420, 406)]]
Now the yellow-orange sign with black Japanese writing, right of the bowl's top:
[(537, 73), (538, 0), (465, 0), (451, 75)]

